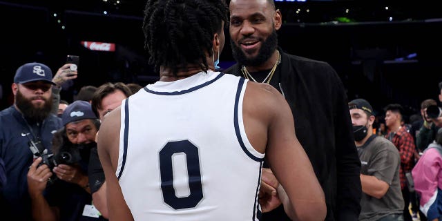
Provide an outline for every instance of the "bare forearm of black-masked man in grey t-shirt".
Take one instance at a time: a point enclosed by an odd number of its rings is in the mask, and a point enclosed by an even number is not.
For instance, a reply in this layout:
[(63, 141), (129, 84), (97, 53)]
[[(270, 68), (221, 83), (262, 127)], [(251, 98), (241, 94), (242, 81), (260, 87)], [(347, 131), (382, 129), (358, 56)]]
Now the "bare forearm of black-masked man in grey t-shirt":
[(374, 175), (361, 174), (362, 191), (376, 199), (381, 199), (387, 193), (390, 185), (383, 180), (378, 180)]

